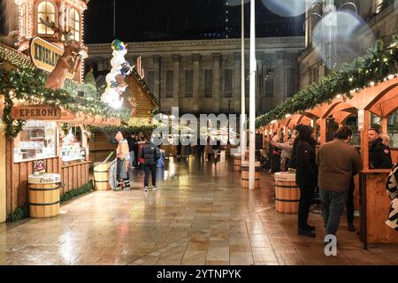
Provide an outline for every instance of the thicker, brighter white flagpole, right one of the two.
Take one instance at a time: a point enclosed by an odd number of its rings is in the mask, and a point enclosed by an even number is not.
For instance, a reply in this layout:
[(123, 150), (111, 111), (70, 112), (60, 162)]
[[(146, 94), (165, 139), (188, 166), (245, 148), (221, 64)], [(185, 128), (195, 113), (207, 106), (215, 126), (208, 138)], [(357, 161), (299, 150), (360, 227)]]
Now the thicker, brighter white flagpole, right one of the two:
[(255, 189), (256, 150), (256, 19), (255, 0), (250, 0), (250, 107), (249, 107), (249, 189)]

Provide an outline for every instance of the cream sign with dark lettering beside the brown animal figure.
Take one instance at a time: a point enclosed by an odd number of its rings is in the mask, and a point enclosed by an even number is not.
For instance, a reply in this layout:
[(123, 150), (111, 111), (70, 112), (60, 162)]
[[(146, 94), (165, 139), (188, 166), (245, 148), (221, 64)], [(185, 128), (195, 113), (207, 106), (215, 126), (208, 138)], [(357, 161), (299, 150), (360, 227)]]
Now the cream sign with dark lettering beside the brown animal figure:
[[(36, 67), (47, 72), (52, 72), (57, 65), (59, 57), (64, 50), (40, 37), (34, 37), (30, 42), (30, 57)], [(68, 72), (67, 78), (72, 80), (73, 73)]]

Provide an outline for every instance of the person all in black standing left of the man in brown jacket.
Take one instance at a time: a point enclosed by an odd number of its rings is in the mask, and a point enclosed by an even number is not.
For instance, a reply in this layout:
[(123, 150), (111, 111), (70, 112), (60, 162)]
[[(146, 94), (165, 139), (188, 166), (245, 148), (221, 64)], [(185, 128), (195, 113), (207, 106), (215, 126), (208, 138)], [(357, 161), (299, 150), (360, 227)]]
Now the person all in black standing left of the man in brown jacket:
[(301, 126), (296, 150), (295, 181), (300, 187), (297, 233), (302, 236), (315, 237), (315, 227), (308, 224), (315, 187), (317, 186), (318, 168), (315, 163), (315, 144), (311, 126)]

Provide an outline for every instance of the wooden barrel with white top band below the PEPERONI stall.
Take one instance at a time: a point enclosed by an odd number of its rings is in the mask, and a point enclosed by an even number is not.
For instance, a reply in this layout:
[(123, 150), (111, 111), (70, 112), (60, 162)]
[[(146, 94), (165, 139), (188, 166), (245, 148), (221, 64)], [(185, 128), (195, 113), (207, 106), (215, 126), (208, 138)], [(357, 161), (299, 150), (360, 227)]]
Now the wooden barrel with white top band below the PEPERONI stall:
[(43, 174), (28, 177), (27, 196), (31, 218), (52, 218), (59, 214), (61, 175)]

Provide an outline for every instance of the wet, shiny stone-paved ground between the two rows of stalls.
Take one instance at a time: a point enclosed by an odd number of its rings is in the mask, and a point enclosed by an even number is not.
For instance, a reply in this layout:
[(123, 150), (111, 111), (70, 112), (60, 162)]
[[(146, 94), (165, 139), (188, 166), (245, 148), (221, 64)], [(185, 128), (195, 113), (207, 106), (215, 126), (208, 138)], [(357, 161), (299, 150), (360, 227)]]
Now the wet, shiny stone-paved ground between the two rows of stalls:
[[(240, 187), (240, 172), (221, 160), (171, 160), (157, 191), (94, 192), (65, 203), (57, 218), (0, 225), (0, 264), (398, 264), (398, 245), (362, 249), (341, 218), (338, 256), (317, 238), (296, 234), (296, 215), (276, 213), (272, 178), (261, 190)], [(356, 227), (358, 226), (356, 219)]]

